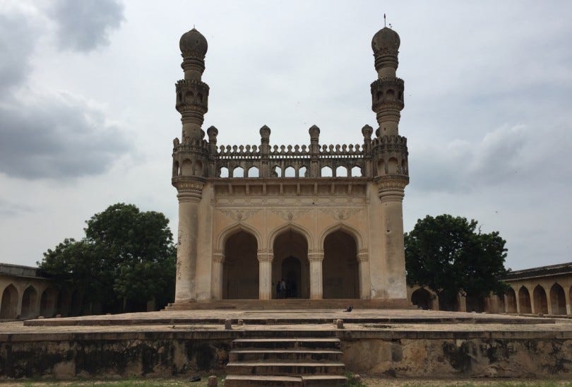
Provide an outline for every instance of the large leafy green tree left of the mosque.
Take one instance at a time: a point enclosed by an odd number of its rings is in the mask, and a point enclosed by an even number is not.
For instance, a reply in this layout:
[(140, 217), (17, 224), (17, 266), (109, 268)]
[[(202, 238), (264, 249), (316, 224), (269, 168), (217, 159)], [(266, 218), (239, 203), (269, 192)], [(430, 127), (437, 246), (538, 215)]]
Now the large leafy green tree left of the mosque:
[(177, 252), (165, 215), (117, 203), (86, 223), (85, 238), (48, 250), (40, 268), (81, 290), (84, 304), (99, 303), (104, 311), (172, 299)]

